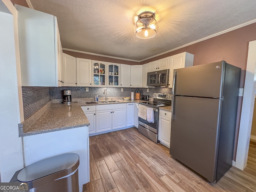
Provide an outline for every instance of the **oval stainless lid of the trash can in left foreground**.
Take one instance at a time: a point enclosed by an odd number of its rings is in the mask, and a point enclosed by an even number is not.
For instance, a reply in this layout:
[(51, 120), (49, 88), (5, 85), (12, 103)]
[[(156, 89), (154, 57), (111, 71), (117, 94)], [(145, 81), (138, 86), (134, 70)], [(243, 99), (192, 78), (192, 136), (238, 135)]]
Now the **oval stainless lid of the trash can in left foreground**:
[(79, 162), (76, 153), (66, 153), (50, 157), (24, 167), (17, 176), (20, 182), (30, 182), (62, 170), (66, 170)]

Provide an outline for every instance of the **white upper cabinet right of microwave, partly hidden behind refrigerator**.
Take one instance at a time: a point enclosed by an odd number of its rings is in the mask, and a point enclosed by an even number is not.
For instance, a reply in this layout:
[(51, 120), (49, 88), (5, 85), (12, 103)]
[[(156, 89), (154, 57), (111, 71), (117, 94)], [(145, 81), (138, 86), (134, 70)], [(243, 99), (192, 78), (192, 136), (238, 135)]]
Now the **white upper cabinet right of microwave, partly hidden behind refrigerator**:
[(170, 75), (169, 75), (169, 88), (172, 88), (173, 70), (190, 67), (194, 64), (194, 55), (188, 52), (183, 52), (170, 56)]

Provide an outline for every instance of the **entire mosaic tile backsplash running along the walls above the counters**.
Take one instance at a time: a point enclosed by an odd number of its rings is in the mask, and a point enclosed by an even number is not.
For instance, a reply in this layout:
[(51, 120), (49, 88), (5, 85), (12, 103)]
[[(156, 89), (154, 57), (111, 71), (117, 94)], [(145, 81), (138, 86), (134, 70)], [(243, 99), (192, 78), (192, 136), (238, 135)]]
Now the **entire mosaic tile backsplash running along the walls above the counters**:
[[(99, 97), (105, 97), (103, 94), (104, 87), (89, 87), (89, 91), (86, 92), (85, 87), (29, 87), (22, 86), (22, 99), (23, 99), (23, 110), (24, 119), (28, 118), (34, 112), (38, 111), (45, 104), (52, 99), (63, 99), (63, 90), (71, 90), (72, 99), (74, 98), (94, 98), (96, 95)], [(121, 88), (107, 87), (108, 98), (110, 97), (130, 97), (131, 92), (138, 90), (140, 94), (149, 95), (152, 98), (153, 93), (171, 93), (170, 88)], [(135, 97), (135, 96), (134, 96)]]

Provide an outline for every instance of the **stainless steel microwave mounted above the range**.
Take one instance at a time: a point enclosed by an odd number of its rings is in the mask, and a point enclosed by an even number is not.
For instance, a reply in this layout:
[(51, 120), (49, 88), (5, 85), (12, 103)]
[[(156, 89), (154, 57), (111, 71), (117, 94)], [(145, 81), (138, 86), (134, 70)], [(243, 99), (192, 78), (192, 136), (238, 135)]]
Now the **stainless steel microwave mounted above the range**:
[(168, 86), (169, 85), (169, 69), (148, 72), (147, 86)]

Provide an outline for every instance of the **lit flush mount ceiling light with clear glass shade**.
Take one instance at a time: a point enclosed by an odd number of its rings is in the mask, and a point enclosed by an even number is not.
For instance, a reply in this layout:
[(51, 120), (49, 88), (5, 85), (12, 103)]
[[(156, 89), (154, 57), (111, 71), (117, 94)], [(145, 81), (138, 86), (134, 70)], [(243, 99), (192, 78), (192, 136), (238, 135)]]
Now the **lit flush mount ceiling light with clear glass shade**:
[(158, 24), (155, 20), (155, 14), (150, 11), (142, 12), (138, 15), (138, 21), (134, 26), (134, 32), (140, 39), (149, 39), (156, 35)]

